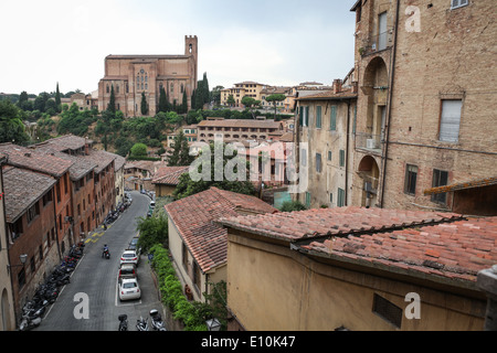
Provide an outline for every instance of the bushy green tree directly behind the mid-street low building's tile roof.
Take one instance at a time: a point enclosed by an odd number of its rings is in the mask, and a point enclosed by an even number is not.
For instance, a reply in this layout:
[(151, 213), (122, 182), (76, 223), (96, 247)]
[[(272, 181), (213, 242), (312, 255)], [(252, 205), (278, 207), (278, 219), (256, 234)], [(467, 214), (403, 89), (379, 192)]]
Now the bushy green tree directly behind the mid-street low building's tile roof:
[[(222, 161), (215, 161), (215, 149), (222, 149)], [(203, 153), (207, 154), (203, 154)], [(232, 156), (232, 157), (230, 157)], [(184, 173), (180, 176), (180, 182), (175, 190), (173, 196), (176, 199), (183, 199), (195, 193), (202, 192), (215, 186), (222, 190), (233, 191), (241, 194), (254, 195), (255, 188), (250, 181), (250, 163), (242, 157), (237, 157), (236, 150), (226, 150), (226, 145), (222, 142), (212, 142), (205, 151), (201, 151), (200, 156), (195, 160), (197, 163), (192, 165), (194, 171), (202, 175), (199, 180), (192, 180), (190, 173)], [(230, 168), (226, 168), (230, 163)], [(239, 170), (239, 165), (242, 167)], [(203, 168), (207, 168), (203, 170)], [(225, 178), (224, 171), (232, 169), (236, 178)], [(240, 176), (237, 176), (241, 174)], [(218, 175), (222, 175), (216, 178)]]

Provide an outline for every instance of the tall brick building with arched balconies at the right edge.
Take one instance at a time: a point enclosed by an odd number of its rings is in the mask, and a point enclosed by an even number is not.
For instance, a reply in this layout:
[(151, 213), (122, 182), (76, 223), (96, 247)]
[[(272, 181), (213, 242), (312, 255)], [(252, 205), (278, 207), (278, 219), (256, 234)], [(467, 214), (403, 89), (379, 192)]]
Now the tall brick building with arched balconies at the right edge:
[(497, 210), (495, 1), (359, 0), (353, 204)]

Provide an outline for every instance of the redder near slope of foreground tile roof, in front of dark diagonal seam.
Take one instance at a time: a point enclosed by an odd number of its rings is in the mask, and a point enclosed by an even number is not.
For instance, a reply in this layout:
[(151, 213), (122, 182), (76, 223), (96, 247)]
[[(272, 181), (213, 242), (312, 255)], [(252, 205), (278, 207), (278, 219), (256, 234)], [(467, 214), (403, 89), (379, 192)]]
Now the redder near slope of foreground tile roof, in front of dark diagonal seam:
[(479, 270), (497, 264), (497, 217), (334, 237), (304, 248), (417, 277), (475, 282)]

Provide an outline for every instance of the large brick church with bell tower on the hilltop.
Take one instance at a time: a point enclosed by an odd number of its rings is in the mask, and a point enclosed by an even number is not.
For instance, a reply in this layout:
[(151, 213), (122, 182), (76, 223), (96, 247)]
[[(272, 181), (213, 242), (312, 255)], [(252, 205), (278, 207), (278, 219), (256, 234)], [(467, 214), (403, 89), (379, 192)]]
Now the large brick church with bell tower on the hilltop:
[(147, 116), (155, 116), (160, 90), (165, 89), (169, 101), (180, 105), (197, 88), (198, 39), (184, 38), (184, 54), (178, 55), (108, 55), (105, 58), (105, 76), (98, 84), (98, 110), (107, 109), (114, 86), (116, 109), (125, 116), (142, 116), (141, 94), (148, 104)]

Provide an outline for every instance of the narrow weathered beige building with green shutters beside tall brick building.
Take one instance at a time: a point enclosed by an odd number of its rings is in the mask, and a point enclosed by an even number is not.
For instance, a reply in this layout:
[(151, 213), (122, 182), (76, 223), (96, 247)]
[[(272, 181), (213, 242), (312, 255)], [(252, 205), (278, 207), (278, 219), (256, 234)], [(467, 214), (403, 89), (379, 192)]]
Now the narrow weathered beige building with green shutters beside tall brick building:
[(295, 142), (308, 188), (295, 195), (307, 207), (349, 205), (352, 197), (357, 85), (334, 82), (331, 90), (297, 98)]

